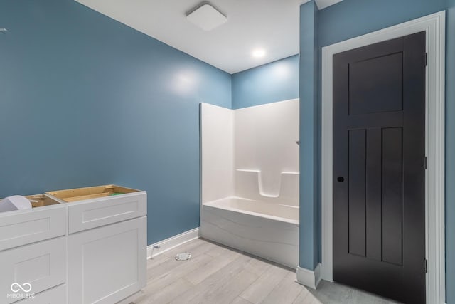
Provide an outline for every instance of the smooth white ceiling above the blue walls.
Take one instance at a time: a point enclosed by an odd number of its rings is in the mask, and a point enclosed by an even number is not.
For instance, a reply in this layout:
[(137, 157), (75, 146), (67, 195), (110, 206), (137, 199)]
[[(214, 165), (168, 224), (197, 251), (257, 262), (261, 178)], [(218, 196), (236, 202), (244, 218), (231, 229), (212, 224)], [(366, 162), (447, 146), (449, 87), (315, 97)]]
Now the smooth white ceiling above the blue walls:
[[(309, 0), (211, 0), (228, 17), (212, 31), (186, 19), (202, 0), (76, 1), (221, 70), (237, 73), (299, 53), (299, 6)], [(316, 3), (322, 9), (339, 1)], [(264, 57), (253, 58), (257, 48), (264, 48)]]

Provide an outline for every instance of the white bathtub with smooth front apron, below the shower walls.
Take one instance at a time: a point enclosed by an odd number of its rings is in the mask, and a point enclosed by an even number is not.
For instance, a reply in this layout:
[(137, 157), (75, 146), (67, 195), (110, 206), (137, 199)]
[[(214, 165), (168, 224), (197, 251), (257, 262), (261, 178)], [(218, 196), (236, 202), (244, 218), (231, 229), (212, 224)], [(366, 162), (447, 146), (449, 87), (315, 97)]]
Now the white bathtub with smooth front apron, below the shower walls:
[(296, 268), (299, 207), (228, 197), (202, 204), (200, 236)]

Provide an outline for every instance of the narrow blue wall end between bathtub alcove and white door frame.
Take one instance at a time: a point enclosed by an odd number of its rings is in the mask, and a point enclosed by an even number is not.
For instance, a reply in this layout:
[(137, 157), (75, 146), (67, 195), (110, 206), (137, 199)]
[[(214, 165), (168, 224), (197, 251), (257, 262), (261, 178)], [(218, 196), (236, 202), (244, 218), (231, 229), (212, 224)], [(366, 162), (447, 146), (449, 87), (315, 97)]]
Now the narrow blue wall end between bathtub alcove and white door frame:
[(300, 6), (300, 246), (299, 266), (319, 263), (318, 9)]

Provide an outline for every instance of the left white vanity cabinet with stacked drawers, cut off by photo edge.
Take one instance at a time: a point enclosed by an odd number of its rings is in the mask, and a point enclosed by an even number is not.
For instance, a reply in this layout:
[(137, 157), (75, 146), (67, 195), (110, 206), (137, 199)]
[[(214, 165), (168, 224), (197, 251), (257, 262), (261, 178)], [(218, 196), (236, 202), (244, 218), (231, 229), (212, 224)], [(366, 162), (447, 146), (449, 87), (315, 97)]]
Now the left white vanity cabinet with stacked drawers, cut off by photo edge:
[(0, 213), (0, 303), (44, 303), (53, 288), (63, 292), (52, 303), (66, 303), (66, 207), (43, 194), (28, 198), (32, 209)]

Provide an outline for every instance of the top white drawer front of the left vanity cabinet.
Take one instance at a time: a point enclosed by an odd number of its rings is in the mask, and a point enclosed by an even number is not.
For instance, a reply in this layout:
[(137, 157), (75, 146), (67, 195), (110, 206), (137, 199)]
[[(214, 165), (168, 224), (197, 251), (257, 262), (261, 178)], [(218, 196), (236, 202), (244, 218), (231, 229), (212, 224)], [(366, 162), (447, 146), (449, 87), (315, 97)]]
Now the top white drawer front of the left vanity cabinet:
[(0, 251), (66, 234), (66, 206), (0, 214)]

